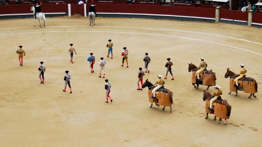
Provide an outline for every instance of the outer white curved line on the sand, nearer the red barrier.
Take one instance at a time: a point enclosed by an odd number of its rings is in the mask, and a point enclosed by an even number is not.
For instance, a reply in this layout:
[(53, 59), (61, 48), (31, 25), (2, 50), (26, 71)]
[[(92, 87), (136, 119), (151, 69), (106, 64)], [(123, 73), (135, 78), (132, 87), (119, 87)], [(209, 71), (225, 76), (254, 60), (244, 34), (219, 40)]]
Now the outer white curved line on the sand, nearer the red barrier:
[[(46, 28), (55, 28), (55, 27), (92, 27), (92, 26), (46, 26)], [(180, 31), (180, 32), (187, 32), (187, 33), (205, 34), (205, 35), (212, 35), (212, 36), (218, 36), (218, 37), (225, 37), (225, 38), (237, 39), (237, 40), (241, 40), (241, 41), (246, 41), (246, 42), (251, 42), (251, 43), (256, 43), (256, 44), (262, 45), (262, 43), (253, 42), (253, 41), (249, 41), (249, 40), (245, 40), (245, 39), (239, 39), (239, 38), (235, 38), (235, 37), (228, 37), (228, 36), (222, 36), (222, 35), (216, 35), (216, 34), (193, 32), (193, 31), (181, 31), (181, 30), (170, 30), (170, 29), (153, 29), (153, 28), (137, 28), (137, 27), (121, 27), (121, 26), (93, 26), (93, 27), (129, 28), (129, 29), (151, 29), (151, 30), (163, 30), (163, 31)], [(40, 28), (40, 27), (6, 28), (6, 29), (0, 29), (0, 30), (8, 30), (8, 29), (29, 29), (29, 28)]]

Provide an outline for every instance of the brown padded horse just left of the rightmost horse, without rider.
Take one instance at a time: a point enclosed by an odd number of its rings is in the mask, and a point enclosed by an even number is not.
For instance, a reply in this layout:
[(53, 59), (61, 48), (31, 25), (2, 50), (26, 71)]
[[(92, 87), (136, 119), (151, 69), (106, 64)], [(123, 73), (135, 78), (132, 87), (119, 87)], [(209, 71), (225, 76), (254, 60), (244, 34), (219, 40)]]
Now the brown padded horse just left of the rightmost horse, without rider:
[[(190, 64), (188, 63), (188, 72), (197, 72), (197, 70), (198, 70), (198, 68), (197, 68), (196, 65), (192, 64), (192, 62), (191, 62)], [(216, 74), (212, 71), (212, 69), (211, 69), (211, 70), (206, 70), (206, 69), (205, 69), (205, 70), (203, 70), (203, 71), (201, 72), (201, 74), (202, 74), (202, 75), (204, 75), (204, 74), (212, 75), (212, 76), (213, 76), (213, 81), (216, 80)], [(195, 80), (195, 79), (193, 79), (194, 77), (195, 77), (195, 76), (192, 74), (192, 85), (194, 86), (194, 88), (198, 89), (199, 85), (204, 85), (204, 84), (203, 84), (203, 77), (204, 77), (204, 76), (202, 76), (202, 77), (200, 78), (200, 80), (198, 80), (198, 79), (196, 78), (196, 82), (193, 83), (193, 80)], [(195, 84), (197, 84), (197, 86), (195, 86)], [(213, 84), (213, 85), (205, 85), (205, 86), (208, 86), (208, 88), (206, 88), (205, 90), (208, 90), (210, 86), (215, 86), (215, 85), (216, 85), (216, 84)]]

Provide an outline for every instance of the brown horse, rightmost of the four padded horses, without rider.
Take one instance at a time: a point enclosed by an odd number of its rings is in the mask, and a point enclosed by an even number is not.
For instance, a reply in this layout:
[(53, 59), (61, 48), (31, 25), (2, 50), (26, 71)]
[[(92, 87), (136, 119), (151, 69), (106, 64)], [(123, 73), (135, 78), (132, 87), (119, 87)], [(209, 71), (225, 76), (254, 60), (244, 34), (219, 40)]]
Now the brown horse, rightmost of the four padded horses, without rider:
[[(235, 72), (233, 72), (233, 71), (229, 70), (229, 68), (227, 68), (227, 72), (226, 72), (226, 74), (225, 74), (225, 78), (228, 78), (228, 77), (229, 77), (229, 78), (232, 78), (232, 79), (236, 79), (236, 78), (238, 77), (238, 75), (236, 75)], [(254, 83), (255, 83), (255, 85), (254, 85), (254, 87), (253, 87), (254, 93), (250, 93), (250, 95), (249, 95), (248, 98), (251, 98), (252, 95), (253, 95), (253, 97), (257, 98), (257, 97), (255, 96), (255, 93), (258, 91), (258, 84), (257, 84), (257, 82), (256, 82), (256, 80), (255, 80), (254, 78), (249, 78), (249, 77), (246, 77), (246, 76), (244, 75), (244, 77), (238, 79), (238, 81), (243, 81), (243, 82), (247, 82), (247, 83), (254, 82)], [(248, 86), (251, 86), (251, 85), (248, 84)], [(246, 88), (247, 88), (247, 87), (246, 87)], [(243, 88), (240, 89), (239, 87), (236, 87), (236, 94), (235, 94), (235, 96), (238, 95), (238, 90), (239, 90), (239, 91), (243, 91), (244, 89), (243, 89)], [(231, 92), (232, 92), (232, 91), (229, 91), (228, 94), (231, 94)]]

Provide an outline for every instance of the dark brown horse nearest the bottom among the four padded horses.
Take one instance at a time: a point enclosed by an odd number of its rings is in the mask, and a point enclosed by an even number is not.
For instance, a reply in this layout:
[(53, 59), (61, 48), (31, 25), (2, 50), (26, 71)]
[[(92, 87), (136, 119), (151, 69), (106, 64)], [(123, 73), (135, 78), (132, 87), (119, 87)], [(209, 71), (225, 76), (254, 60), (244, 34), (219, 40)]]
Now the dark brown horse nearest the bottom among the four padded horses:
[[(206, 90), (204, 90), (203, 95), (204, 95), (204, 96), (203, 96), (203, 101), (205, 101), (206, 99), (207, 99), (207, 100), (210, 100), (211, 98), (213, 98), (213, 97), (211, 97), (212, 94), (211, 94), (209, 91), (206, 91)], [(218, 99), (218, 100), (217, 100), (217, 103), (218, 103), (218, 104), (221, 104), (221, 105), (224, 105), (224, 106), (227, 107), (227, 116), (230, 116), (231, 107), (230, 107), (230, 105), (227, 103), (227, 100), (226, 100), (226, 99), (221, 99), (220, 96), (219, 96), (217, 99)], [(216, 101), (214, 101), (214, 102), (216, 102)], [(211, 114), (211, 113), (210, 113), (210, 114)], [(208, 113), (207, 113), (207, 116), (205, 117), (205, 119), (208, 119)], [(215, 118), (214, 118), (214, 121), (215, 121), (215, 120), (216, 120), (216, 116), (215, 116)], [(222, 118), (219, 118), (219, 121), (222, 121)], [(224, 125), (227, 125), (227, 119), (225, 119)]]

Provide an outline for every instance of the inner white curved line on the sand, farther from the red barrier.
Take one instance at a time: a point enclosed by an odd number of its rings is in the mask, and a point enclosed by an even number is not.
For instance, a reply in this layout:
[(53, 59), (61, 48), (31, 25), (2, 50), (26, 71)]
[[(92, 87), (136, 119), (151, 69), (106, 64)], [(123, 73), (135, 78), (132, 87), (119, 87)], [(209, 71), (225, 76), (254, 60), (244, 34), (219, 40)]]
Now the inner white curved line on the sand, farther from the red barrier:
[(179, 36), (170, 36), (170, 35), (161, 35), (161, 34), (146, 34), (146, 33), (131, 33), (131, 32), (113, 32), (113, 31), (46, 31), (46, 32), (26, 32), (26, 33), (11, 33), (11, 34), (0, 34), (0, 36), (4, 36), (4, 35), (16, 35), (16, 34), (32, 34), (32, 33), (62, 33), (62, 32), (97, 32), (97, 33), (122, 33), (122, 34), (141, 34), (141, 35), (155, 35), (155, 36), (165, 36), (165, 37), (176, 37), (176, 38), (183, 38), (183, 39), (191, 39), (191, 40), (198, 40), (198, 41), (203, 41), (203, 42), (209, 42), (209, 43), (214, 43), (214, 44), (218, 44), (218, 45), (224, 45), (227, 47), (231, 47), (231, 48), (236, 48), (239, 50), (245, 50), (247, 52), (251, 52), (251, 53), (255, 53), (257, 55), (262, 56), (262, 54), (260, 53), (256, 53), (250, 50), (246, 50), (243, 48), (238, 48), (238, 47), (234, 47), (231, 45), (225, 45), (222, 43), (216, 43), (216, 42), (211, 42), (211, 41), (206, 41), (206, 40), (201, 40), (201, 39), (193, 39), (193, 38), (187, 38), (187, 37), (179, 37)]

